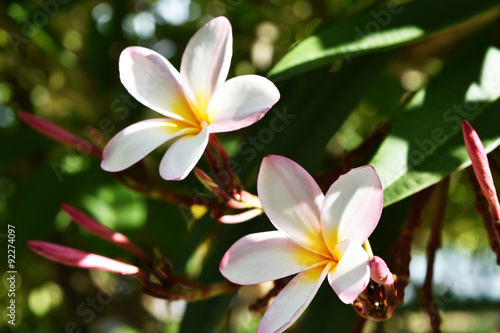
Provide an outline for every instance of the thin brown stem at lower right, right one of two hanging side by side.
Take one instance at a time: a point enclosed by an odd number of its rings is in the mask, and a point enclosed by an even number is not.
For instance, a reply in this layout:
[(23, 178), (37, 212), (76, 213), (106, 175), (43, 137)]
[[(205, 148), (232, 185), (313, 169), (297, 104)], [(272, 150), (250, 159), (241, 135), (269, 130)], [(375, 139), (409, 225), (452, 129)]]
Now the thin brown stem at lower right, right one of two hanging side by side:
[(439, 309), (436, 307), (436, 304), (432, 299), (432, 277), (434, 275), (436, 251), (441, 246), (441, 230), (446, 212), (449, 185), (450, 178), (446, 177), (436, 186), (437, 189), (435, 195), (437, 196), (437, 200), (432, 220), (431, 238), (427, 244), (427, 272), (422, 289), (422, 306), (429, 316), (433, 333), (441, 333), (441, 317), (439, 316)]

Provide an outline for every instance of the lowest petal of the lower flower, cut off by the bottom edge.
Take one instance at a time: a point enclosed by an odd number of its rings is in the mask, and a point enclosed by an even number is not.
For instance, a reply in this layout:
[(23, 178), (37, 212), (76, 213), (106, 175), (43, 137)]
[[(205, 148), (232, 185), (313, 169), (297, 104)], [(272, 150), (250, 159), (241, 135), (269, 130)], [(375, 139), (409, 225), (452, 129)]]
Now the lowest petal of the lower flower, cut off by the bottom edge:
[(331, 266), (315, 267), (294, 277), (271, 303), (257, 332), (283, 332), (292, 326), (311, 303)]

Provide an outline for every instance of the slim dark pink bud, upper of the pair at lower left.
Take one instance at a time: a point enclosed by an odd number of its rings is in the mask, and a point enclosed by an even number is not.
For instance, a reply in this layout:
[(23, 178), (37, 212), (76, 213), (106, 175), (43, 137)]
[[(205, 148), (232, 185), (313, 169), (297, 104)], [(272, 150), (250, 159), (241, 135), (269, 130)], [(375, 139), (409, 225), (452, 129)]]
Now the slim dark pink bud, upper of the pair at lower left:
[(62, 210), (66, 212), (75, 221), (76, 224), (84, 228), (85, 230), (93, 233), (94, 235), (113, 243), (124, 250), (127, 250), (133, 253), (136, 257), (138, 257), (142, 261), (149, 261), (148, 256), (144, 251), (142, 251), (139, 247), (137, 247), (134, 243), (128, 239), (127, 236), (121, 234), (119, 232), (113, 231), (101, 223), (97, 222), (84, 212), (72, 207), (68, 204), (61, 204)]

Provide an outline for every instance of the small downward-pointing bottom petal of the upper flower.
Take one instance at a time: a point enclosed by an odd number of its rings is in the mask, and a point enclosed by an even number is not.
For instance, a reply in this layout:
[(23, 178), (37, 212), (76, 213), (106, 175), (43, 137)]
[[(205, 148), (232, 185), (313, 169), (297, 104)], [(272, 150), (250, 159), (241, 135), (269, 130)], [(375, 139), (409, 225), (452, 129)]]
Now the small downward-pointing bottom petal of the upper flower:
[(182, 180), (193, 170), (208, 144), (208, 126), (189, 134), (172, 144), (160, 163), (160, 176), (166, 180)]

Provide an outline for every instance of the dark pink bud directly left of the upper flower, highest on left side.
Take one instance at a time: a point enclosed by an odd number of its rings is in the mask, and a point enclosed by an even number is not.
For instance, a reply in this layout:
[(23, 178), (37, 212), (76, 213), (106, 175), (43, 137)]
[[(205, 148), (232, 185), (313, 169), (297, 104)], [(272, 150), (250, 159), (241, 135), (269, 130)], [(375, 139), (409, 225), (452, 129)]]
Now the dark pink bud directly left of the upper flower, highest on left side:
[(25, 111), (19, 111), (19, 118), (34, 130), (56, 140), (62, 144), (73, 147), (85, 154), (90, 154), (101, 158), (101, 150), (92, 143), (82, 139), (81, 137), (59, 127), (50, 121), (37, 117)]

